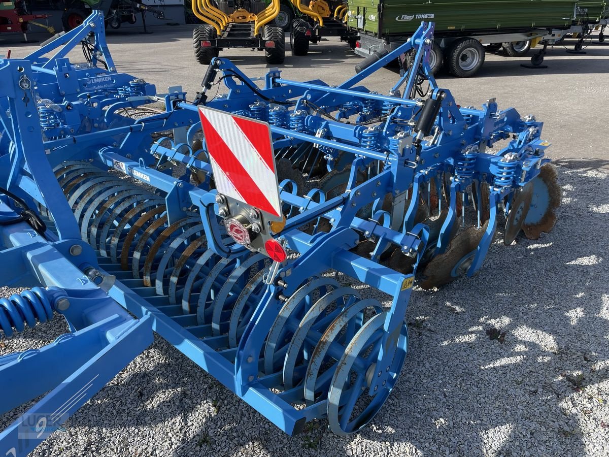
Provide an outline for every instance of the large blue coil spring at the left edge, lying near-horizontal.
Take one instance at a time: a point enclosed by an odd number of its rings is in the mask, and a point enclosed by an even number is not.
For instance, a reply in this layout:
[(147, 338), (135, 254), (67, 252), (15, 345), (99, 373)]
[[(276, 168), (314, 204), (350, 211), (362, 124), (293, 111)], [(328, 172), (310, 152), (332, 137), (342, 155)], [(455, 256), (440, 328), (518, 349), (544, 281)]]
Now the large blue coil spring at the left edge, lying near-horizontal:
[(53, 317), (51, 299), (46, 289), (35, 287), (20, 294), (13, 294), (8, 299), (0, 299), (0, 329), (4, 335), (13, 335), (25, 330), (38, 322), (46, 322)]

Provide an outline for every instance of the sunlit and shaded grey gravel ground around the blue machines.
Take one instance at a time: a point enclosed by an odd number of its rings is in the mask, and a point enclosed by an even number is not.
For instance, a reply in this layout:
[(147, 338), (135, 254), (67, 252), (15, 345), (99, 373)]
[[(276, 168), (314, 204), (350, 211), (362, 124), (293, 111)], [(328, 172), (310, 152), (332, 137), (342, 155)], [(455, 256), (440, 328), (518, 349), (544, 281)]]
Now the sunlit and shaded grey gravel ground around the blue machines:
[[(415, 289), (403, 374), (362, 433), (322, 421), (290, 438), (157, 338), (32, 455), (609, 455), (609, 169), (557, 163), (552, 233), (494, 244), (475, 278)], [(0, 353), (64, 331), (57, 318)]]

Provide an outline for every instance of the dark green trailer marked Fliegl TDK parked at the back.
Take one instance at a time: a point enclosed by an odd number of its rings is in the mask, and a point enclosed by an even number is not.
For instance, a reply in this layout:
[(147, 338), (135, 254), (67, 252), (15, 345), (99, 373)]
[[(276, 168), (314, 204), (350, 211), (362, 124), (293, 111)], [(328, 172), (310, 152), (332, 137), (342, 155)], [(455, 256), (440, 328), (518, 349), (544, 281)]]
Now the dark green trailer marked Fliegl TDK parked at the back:
[(445, 66), (454, 76), (470, 77), (484, 64), (485, 51), (502, 47), (520, 57), (551, 30), (599, 23), (607, 12), (604, 0), (349, 0), (347, 26), (360, 37), (356, 54), (370, 57), (365, 68), (406, 41), (421, 21), (434, 22), (432, 69)]

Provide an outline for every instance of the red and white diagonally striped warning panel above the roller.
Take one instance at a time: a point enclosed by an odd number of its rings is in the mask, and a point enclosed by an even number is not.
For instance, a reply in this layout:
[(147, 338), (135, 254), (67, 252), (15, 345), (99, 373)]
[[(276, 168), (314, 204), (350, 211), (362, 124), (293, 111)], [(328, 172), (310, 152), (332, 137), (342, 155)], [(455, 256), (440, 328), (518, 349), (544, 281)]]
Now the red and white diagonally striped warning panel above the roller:
[(269, 124), (208, 107), (199, 115), (217, 191), (283, 217)]

